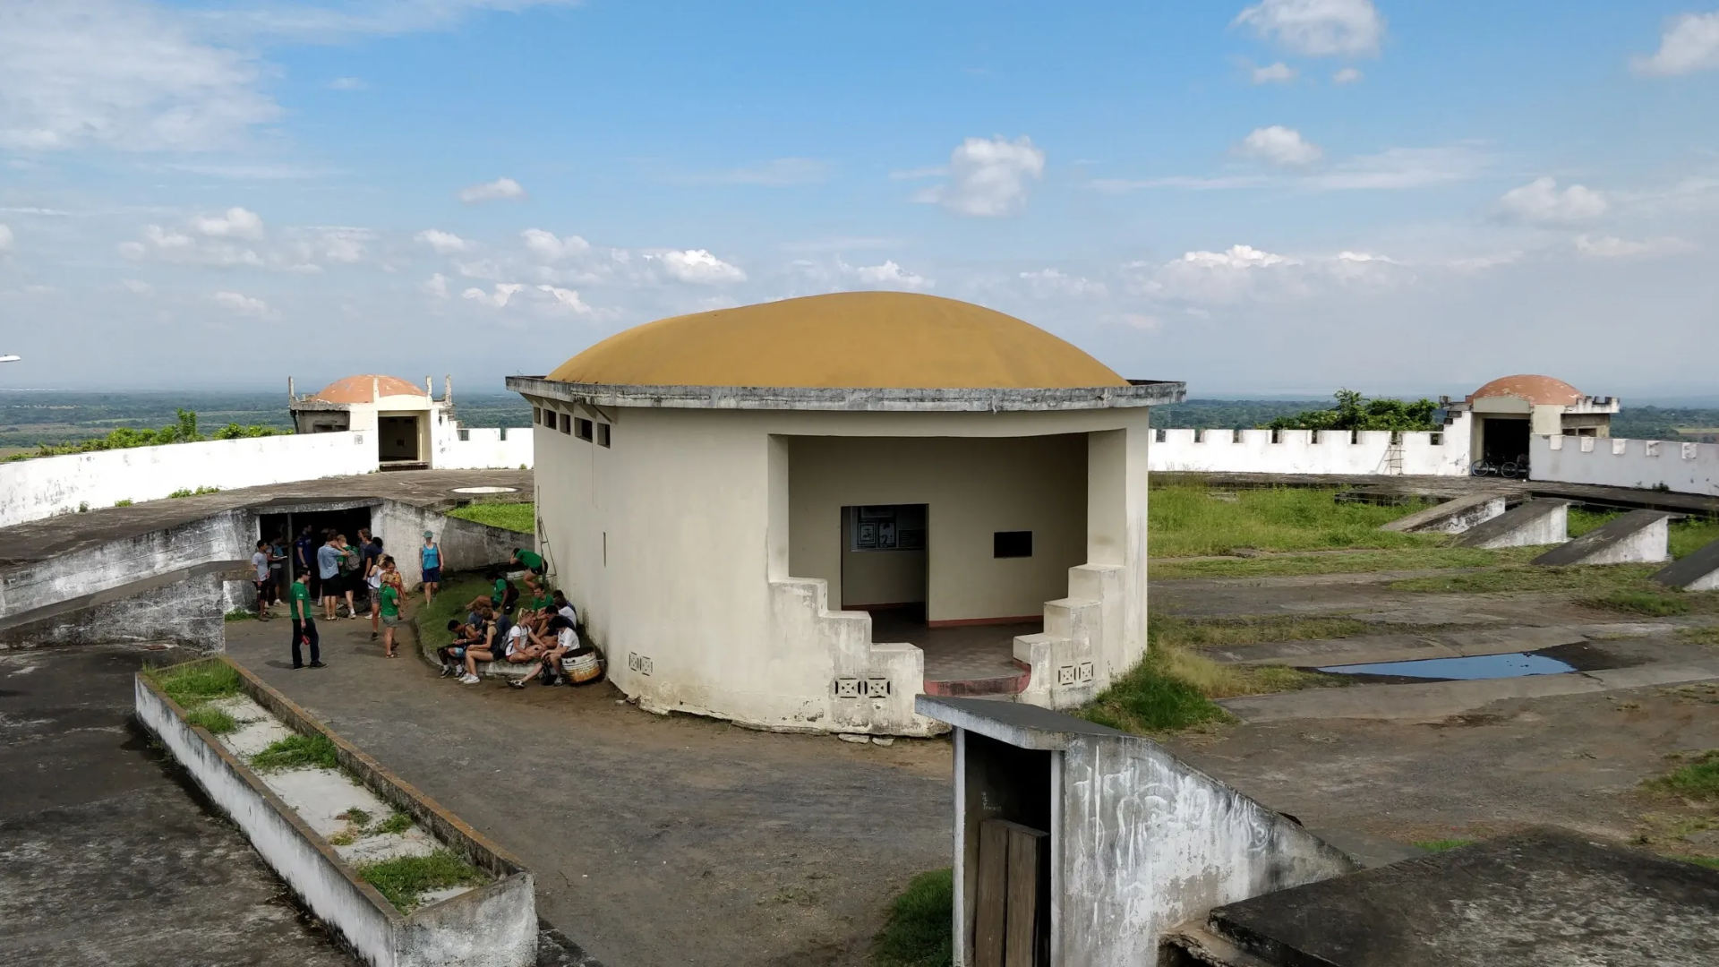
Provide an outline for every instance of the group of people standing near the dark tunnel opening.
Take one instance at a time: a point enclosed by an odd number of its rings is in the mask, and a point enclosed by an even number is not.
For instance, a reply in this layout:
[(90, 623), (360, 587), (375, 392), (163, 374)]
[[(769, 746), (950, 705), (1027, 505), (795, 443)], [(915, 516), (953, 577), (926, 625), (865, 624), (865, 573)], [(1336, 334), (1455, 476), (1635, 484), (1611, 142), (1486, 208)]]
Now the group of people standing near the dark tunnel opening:
[[(287, 559), (280, 554), (284, 540), (256, 542), (251, 554), (251, 566), (256, 570), (256, 616), (268, 619), (270, 601), (280, 604), (278, 578), (275, 571)], [(425, 532), (423, 587), (428, 604), (442, 580), (442, 547), (433, 532)], [(316, 601), (323, 606), (323, 619), (337, 621), (340, 601), (346, 599), (346, 614), (359, 621), (356, 599), (364, 595), (370, 604), (370, 640), (382, 638), (382, 657), (397, 657), (394, 630), (401, 623), (401, 604), (406, 597), (406, 582), (399, 564), (383, 551), (382, 537), (375, 537), (368, 528), (358, 530), (358, 547), (347, 542), (344, 533), (323, 530), (321, 545), (316, 545), (309, 525), (299, 533), (292, 545), (292, 587), (289, 588), (287, 618), (292, 619), (292, 668), (323, 668), (321, 637), (316, 631), (313, 616)], [(309, 649), (309, 664), (304, 662), (303, 649)]]

